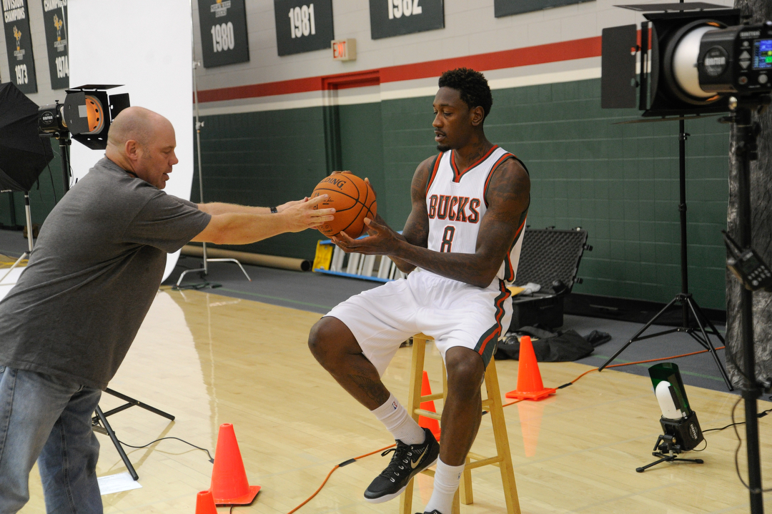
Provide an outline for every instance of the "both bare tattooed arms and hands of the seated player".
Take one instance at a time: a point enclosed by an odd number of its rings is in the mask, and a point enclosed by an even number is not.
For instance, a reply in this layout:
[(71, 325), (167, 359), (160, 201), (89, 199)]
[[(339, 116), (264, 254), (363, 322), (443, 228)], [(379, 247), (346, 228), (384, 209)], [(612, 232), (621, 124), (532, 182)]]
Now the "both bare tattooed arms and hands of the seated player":
[(413, 208), (405, 224), (404, 238), (378, 221), (366, 220), (370, 237), (354, 240), (341, 234), (335, 241), (347, 252), (389, 255), (403, 271), (418, 266), (449, 279), (487, 287), (510, 251), (528, 209), (528, 174), (514, 159), (504, 161), (493, 172), (486, 196), (488, 210), (480, 220), (475, 253), (434, 252), (426, 248), (425, 190), (430, 161), (424, 161), (415, 171), (411, 191)]

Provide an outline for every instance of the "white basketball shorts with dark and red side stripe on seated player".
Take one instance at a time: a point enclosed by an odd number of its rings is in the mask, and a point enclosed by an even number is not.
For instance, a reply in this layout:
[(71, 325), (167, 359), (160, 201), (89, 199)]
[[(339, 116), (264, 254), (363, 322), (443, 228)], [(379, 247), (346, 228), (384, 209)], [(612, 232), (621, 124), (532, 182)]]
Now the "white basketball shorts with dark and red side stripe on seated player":
[(512, 320), (506, 284), (470, 286), (425, 270), (369, 289), (332, 309), (354, 334), (364, 357), (383, 376), (399, 345), (416, 333), (434, 338), (445, 359), (452, 347), (476, 351), (487, 366)]

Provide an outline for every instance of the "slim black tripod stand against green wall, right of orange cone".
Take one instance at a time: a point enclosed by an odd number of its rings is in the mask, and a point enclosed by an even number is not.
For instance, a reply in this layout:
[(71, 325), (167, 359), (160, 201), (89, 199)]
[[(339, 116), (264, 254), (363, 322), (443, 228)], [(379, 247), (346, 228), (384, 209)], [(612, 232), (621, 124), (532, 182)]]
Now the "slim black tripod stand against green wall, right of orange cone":
[[(703, 313), (703, 310), (699, 308), (699, 305), (697, 305), (694, 297), (692, 296), (692, 293), (689, 293), (689, 271), (688, 271), (688, 262), (686, 257), (686, 138), (689, 137), (689, 134), (686, 134), (686, 130), (684, 128), (684, 120), (679, 120), (679, 188), (680, 188), (680, 203), (679, 203), (679, 213), (680, 213), (680, 221), (681, 221), (681, 293), (678, 293), (675, 295), (675, 298), (670, 300), (670, 303), (668, 303), (662, 310), (659, 311), (659, 313), (656, 313), (655, 316), (648, 320), (648, 323), (646, 323), (641, 330), (638, 330), (637, 333), (635, 333), (635, 336), (632, 336), (630, 340), (628, 340), (627, 343), (623, 347), (621, 347), (619, 350), (614, 353), (614, 355), (611, 356), (601, 367), (598, 368), (599, 371), (604, 370), (605, 367), (607, 367), (613, 360), (615, 360), (620, 353), (625, 351), (625, 349), (630, 346), (632, 343), (635, 343), (635, 341), (641, 341), (645, 339), (651, 339), (652, 337), (658, 337), (658, 336), (664, 336), (669, 333), (674, 332), (682, 332), (687, 333), (689, 336), (692, 336), (694, 340), (697, 341), (697, 343), (700, 344), (703, 348), (708, 350), (711, 355), (713, 355), (713, 360), (716, 361), (716, 366), (719, 368), (719, 371), (721, 373), (721, 377), (723, 377), (724, 383), (726, 384), (726, 387), (729, 388), (730, 391), (734, 391), (734, 387), (732, 386), (732, 383), (729, 380), (729, 375), (726, 374), (726, 370), (723, 367), (723, 364), (721, 363), (721, 360), (719, 359), (718, 355), (716, 354), (716, 348), (713, 347), (713, 343), (709, 339), (709, 335), (716, 336), (718, 340), (720, 340), (722, 345), (725, 345), (725, 341), (723, 336), (719, 333), (718, 330), (716, 330), (716, 326), (713, 326), (713, 323), (710, 322), (710, 320), (705, 316)], [(742, 244), (742, 243), (741, 243)], [(674, 306), (676, 303), (679, 303), (681, 305), (681, 313), (682, 313), (682, 319), (681, 319), (681, 326), (668, 329), (668, 330), (661, 330), (659, 332), (650, 333), (648, 335), (642, 335), (645, 333), (646, 330), (653, 324), (657, 322), (664, 314), (667, 312), (670, 307)], [(694, 316), (695, 325), (692, 325), (689, 320), (689, 313), (692, 313), (692, 316)], [(706, 326), (707, 329), (706, 330)]]

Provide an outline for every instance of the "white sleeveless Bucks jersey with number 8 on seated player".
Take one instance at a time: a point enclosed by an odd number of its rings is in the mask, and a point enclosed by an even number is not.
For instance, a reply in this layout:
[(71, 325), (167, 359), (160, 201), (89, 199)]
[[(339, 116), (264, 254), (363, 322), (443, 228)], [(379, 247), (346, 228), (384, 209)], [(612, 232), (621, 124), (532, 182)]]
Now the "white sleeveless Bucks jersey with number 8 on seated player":
[[(435, 252), (475, 253), (480, 221), (485, 215), (486, 189), (493, 171), (513, 154), (495, 145), (466, 171), (455, 166), (452, 150), (439, 154), (426, 188), (426, 208), (429, 216), (428, 249)], [(501, 263), (498, 279), (513, 282), (523, 244), (522, 220), (518, 223), (515, 241)]]

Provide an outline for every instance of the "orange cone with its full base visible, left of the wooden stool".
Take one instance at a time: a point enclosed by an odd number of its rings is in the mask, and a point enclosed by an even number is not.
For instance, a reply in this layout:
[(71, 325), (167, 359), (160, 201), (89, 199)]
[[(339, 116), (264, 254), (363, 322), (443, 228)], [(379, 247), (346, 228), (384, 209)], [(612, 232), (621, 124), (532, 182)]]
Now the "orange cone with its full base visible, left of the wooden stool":
[(248, 505), (260, 490), (259, 485), (247, 482), (239, 443), (230, 423), (220, 425), (210, 490), (217, 505)]

